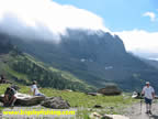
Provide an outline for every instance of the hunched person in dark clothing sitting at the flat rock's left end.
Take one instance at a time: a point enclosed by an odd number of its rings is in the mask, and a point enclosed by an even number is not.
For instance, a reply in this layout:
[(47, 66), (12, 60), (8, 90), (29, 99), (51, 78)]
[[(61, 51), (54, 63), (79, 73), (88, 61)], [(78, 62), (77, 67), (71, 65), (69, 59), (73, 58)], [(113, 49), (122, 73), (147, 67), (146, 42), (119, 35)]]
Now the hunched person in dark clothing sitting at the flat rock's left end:
[(3, 98), (3, 105), (5, 107), (13, 107), (14, 102), (16, 101), (16, 97), (15, 94), (18, 91), (18, 86), (10, 86), (7, 88), (5, 93), (4, 93), (4, 98)]

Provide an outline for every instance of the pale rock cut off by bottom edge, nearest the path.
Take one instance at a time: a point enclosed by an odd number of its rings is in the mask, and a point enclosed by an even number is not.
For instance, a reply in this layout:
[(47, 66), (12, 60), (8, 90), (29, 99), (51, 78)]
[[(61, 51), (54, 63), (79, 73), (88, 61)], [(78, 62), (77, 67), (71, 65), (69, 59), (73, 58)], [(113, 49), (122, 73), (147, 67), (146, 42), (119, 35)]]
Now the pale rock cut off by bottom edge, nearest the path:
[(129, 119), (129, 118), (121, 115), (104, 115), (102, 119)]

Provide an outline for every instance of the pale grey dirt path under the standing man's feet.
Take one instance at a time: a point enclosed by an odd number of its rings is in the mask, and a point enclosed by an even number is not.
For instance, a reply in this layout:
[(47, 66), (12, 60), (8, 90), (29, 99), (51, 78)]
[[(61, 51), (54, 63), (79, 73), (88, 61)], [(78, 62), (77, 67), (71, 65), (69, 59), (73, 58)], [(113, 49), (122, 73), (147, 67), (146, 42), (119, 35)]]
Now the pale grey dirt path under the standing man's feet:
[(153, 104), (153, 116), (148, 116), (146, 112), (146, 105), (143, 102), (140, 110), (140, 102), (133, 105), (126, 109), (125, 116), (129, 119), (158, 119), (158, 101), (155, 100)]

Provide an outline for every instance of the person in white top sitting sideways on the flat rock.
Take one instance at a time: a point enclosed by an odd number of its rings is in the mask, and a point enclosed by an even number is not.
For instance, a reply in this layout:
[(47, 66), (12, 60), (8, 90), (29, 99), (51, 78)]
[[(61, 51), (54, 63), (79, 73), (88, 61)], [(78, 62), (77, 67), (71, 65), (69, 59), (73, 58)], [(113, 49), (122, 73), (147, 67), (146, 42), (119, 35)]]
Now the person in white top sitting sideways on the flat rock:
[(33, 96), (44, 96), (44, 94), (40, 93), (37, 86), (36, 86), (36, 80), (33, 82), (32, 86), (31, 86), (31, 91), (33, 93)]

